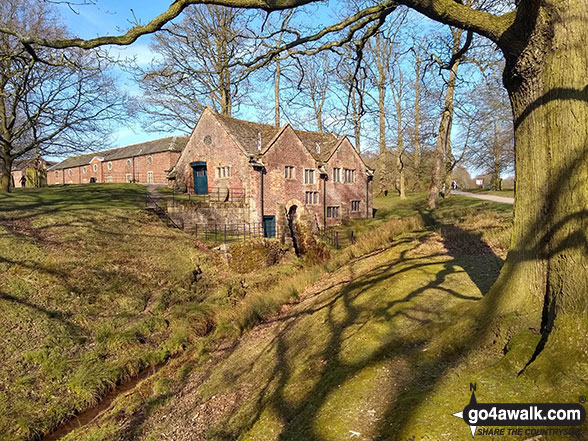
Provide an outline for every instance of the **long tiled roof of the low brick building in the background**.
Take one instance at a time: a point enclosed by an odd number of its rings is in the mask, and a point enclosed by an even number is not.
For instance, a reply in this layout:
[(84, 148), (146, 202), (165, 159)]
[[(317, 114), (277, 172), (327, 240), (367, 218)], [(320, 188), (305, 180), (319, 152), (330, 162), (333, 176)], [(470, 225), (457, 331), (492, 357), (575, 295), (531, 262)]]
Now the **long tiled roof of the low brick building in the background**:
[(150, 155), (152, 153), (160, 153), (168, 150), (174, 152), (181, 152), (187, 143), (188, 137), (169, 136), (167, 138), (141, 142), (138, 144), (128, 145), (126, 147), (118, 147), (115, 149), (88, 153), (85, 155), (72, 156), (71, 158), (67, 158), (59, 164), (52, 166), (50, 170), (62, 170), (65, 168), (88, 165), (92, 158), (94, 158), (95, 156), (104, 158), (104, 161), (114, 161), (115, 159), (124, 159), (131, 158), (133, 156)]

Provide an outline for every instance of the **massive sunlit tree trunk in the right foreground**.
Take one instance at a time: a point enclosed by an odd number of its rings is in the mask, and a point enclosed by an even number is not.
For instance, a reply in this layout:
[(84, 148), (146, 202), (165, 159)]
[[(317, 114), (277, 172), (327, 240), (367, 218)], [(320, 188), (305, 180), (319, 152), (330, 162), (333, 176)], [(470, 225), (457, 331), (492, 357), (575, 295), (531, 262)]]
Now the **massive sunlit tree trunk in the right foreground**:
[(517, 189), (511, 250), (489, 300), (542, 317), (545, 342), (558, 314), (588, 312), (588, 10), (577, 0), (527, 9), (520, 25), (534, 28), (516, 37), (528, 43), (505, 50)]

